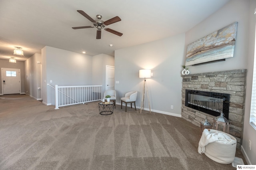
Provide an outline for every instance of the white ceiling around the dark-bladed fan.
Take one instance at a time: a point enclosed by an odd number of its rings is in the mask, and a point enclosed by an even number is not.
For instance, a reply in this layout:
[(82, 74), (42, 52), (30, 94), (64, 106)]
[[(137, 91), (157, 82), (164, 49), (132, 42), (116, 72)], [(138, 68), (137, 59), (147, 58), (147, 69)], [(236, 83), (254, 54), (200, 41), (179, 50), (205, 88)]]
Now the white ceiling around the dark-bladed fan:
[[(87, 55), (152, 42), (184, 33), (216, 12), (229, 0), (0, 0), (0, 59), (15, 57), (25, 61), (44, 46)], [(79, 14), (83, 10), (94, 20), (97, 14), (106, 21), (119, 16), (122, 21), (107, 26), (123, 36), (102, 30), (96, 40), (96, 28)], [(110, 47), (109, 44), (113, 44)], [(24, 57), (13, 55), (22, 47)], [(61, 56), (60, 56), (61, 57)]]

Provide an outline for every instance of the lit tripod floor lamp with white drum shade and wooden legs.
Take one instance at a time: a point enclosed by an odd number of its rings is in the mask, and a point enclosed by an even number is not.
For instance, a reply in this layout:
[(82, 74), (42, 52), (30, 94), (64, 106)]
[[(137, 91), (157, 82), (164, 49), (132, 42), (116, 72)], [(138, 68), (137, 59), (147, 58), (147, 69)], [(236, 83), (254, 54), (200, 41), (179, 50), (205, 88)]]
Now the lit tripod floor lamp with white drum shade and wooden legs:
[[(147, 87), (146, 78), (151, 77), (151, 70), (146, 70), (146, 69), (140, 70), (139, 77), (144, 78), (143, 93), (142, 93), (142, 99), (141, 99), (141, 105), (140, 105), (140, 113), (141, 113), (142, 109), (144, 110), (145, 89), (148, 96), (148, 87)], [(149, 98), (148, 98), (148, 106), (149, 106), (149, 112), (151, 113)]]

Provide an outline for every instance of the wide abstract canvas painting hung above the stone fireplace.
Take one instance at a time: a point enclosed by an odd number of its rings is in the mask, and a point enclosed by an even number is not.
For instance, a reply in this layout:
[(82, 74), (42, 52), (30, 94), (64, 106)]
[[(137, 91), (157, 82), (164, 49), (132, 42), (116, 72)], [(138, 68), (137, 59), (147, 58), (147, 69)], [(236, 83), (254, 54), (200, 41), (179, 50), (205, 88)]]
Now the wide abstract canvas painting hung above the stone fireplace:
[(185, 65), (197, 65), (233, 57), (238, 22), (234, 22), (187, 47)]

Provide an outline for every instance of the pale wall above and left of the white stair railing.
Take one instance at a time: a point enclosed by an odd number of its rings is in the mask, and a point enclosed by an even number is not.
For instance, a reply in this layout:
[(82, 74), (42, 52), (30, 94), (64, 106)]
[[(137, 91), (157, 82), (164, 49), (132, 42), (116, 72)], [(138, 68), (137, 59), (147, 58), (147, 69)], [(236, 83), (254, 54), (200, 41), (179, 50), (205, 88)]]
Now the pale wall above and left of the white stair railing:
[(47, 83), (53, 86), (92, 85), (92, 56), (45, 46), (42, 49), (42, 80), (43, 102), (55, 105), (54, 89)]

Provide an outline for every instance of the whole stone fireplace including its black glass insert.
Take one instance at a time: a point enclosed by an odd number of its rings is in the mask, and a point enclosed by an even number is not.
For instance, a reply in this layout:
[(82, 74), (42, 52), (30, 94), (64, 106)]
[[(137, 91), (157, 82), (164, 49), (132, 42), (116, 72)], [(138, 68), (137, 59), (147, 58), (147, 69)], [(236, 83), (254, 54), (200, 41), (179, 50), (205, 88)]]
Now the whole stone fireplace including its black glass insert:
[[(237, 147), (240, 147), (245, 85), (246, 69), (182, 75), (182, 118), (200, 127), (200, 122), (206, 118), (212, 124), (212, 119), (224, 110), (224, 115), (230, 120), (230, 134), (236, 137)], [(199, 93), (203, 97), (198, 97)], [(206, 109), (214, 110), (210, 111), (213, 114), (205, 112)]]

